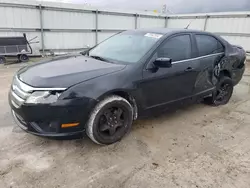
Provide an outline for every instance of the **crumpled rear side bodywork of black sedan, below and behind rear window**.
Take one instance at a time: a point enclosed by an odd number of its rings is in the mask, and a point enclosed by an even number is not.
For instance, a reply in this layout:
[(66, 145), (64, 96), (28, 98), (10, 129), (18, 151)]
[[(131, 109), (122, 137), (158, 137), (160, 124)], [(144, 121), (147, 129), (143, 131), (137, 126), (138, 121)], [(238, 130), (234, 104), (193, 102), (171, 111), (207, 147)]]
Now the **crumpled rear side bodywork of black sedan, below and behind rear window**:
[(195, 84), (196, 92), (215, 87), (222, 74), (232, 78), (236, 85), (241, 80), (245, 70), (246, 55), (244, 49), (232, 46), (221, 37), (214, 37), (223, 44), (224, 53), (202, 58), (201, 71)]

